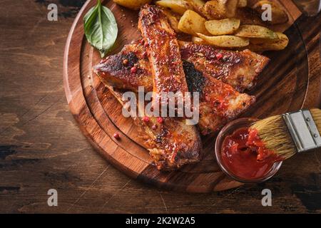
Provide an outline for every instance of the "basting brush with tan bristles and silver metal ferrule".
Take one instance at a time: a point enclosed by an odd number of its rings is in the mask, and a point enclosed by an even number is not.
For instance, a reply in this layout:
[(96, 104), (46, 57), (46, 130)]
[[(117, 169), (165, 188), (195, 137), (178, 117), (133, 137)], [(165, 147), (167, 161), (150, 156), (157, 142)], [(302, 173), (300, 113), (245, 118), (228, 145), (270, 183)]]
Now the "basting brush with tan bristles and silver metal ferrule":
[(287, 159), (296, 153), (321, 147), (321, 110), (298, 110), (258, 120), (250, 126), (267, 149)]

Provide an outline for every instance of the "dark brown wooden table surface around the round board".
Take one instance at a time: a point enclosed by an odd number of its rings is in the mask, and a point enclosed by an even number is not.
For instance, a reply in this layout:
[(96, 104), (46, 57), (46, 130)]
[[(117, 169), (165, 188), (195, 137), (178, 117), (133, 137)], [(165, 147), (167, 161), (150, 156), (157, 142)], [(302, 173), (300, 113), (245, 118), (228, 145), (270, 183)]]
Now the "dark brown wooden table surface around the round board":
[[(58, 21), (47, 20), (50, 3), (58, 4)], [(0, 212), (321, 212), (320, 151), (288, 160), (263, 184), (211, 194), (156, 189), (103, 160), (73, 120), (63, 90), (63, 49), (82, 4), (1, 2)], [(312, 39), (308, 51), (320, 62), (320, 33)], [(321, 76), (321, 67), (312, 70)], [(58, 207), (47, 204), (52, 188)], [(261, 204), (265, 188), (272, 207)]]

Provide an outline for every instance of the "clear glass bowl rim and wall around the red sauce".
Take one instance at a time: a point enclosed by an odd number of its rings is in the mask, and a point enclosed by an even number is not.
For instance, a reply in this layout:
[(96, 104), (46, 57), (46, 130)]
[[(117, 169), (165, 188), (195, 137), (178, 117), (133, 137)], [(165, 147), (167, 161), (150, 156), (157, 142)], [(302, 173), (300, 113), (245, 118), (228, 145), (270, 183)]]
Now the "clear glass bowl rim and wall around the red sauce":
[(268, 179), (270, 179), (275, 173), (280, 169), (282, 165), (282, 161), (275, 162), (271, 169), (263, 176), (255, 179), (243, 179), (241, 177), (238, 177), (233, 174), (233, 172), (230, 172), (228, 167), (224, 165), (223, 159), (222, 159), (222, 145), (223, 141), (226, 136), (232, 135), (235, 130), (238, 130), (240, 128), (248, 128), (250, 127), (251, 123), (257, 121), (258, 119), (255, 118), (239, 118), (237, 120), (233, 120), (227, 125), (225, 125), (222, 130), (220, 130), (220, 133), (218, 133), (218, 137), (216, 138), (215, 142), (215, 156), (216, 160), (218, 161), (218, 165), (220, 166), (220, 169), (225, 172), (226, 175), (229, 177), (233, 178), (234, 180), (238, 182), (243, 182), (243, 183), (259, 183), (259, 182), (264, 182)]

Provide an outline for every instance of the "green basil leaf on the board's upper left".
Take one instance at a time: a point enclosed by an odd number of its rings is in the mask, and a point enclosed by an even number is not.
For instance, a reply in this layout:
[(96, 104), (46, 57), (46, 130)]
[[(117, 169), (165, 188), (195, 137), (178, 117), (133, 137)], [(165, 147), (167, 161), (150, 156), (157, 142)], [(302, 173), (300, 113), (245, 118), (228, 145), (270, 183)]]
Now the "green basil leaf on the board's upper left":
[(83, 28), (87, 41), (98, 49), (103, 58), (117, 38), (118, 27), (115, 16), (110, 9), (101, 6), (101, 1), (98, 0), (97, 5), (83, 17)]

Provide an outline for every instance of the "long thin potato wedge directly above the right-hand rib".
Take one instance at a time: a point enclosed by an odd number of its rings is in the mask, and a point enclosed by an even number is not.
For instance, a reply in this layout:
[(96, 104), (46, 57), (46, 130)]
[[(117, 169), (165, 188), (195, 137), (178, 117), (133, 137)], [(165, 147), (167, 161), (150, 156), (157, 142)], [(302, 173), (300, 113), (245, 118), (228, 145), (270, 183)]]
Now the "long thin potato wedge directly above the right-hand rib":
[(249, 45), (249, 39), (238, 36), (205, 36), (198, 33), (206, 43), (220, 48), (240, 48)]

